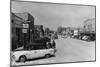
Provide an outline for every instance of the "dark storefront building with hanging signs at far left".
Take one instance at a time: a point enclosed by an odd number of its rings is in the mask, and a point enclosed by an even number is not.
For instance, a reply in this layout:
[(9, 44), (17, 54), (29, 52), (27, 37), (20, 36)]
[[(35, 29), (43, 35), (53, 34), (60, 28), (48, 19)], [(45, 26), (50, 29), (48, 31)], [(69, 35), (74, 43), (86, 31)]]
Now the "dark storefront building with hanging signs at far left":
[(16, 49), (30, 42), (30, 34), (34, 29), (34, 17), (29, 13), (12, 13), (11, 16), (11, 45)]

